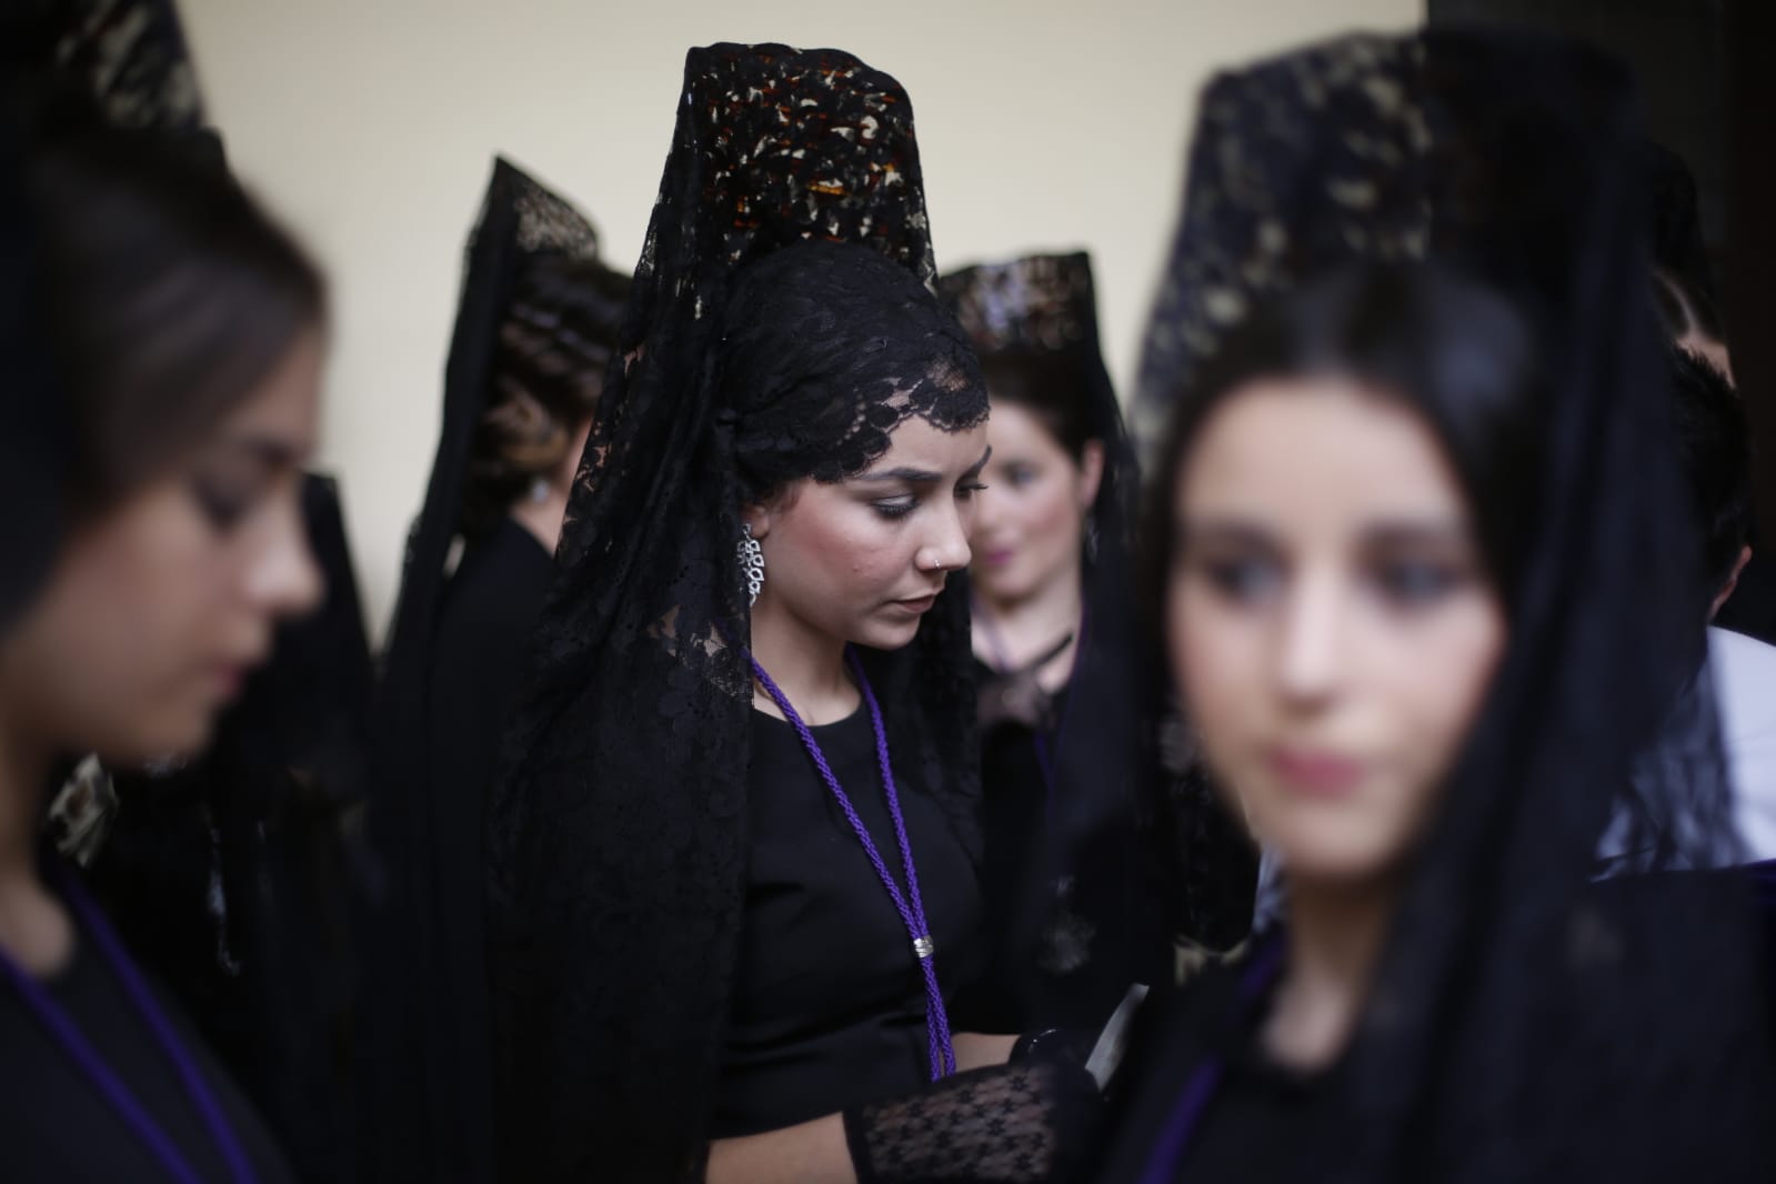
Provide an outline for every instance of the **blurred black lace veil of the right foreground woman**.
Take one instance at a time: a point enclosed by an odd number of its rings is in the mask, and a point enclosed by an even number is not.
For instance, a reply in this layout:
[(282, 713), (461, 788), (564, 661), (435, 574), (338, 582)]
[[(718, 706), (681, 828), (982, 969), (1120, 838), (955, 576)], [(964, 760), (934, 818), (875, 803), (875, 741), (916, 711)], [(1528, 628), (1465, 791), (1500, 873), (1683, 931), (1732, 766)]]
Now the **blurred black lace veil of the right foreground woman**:
[(1621, 67), (1510, 34), (1348, 37), (1202, 99), (1144, 424), (1252, 309), (1359, 259), (1426, 259), (1502, 295), (1554, 396), (1517, 492), (1533, 538), (1501, 573), (1508, 651), (1305, 1156), (1316, 1179), (1769, 1170), (1762, 957), (1737, 886), (1591, 880), (1621, 813), (1666, 820), (1648, 872), (1733, 841), (1712, 719), (1629, 776), (1707, 607), (1645, 295), (1639, 144)]

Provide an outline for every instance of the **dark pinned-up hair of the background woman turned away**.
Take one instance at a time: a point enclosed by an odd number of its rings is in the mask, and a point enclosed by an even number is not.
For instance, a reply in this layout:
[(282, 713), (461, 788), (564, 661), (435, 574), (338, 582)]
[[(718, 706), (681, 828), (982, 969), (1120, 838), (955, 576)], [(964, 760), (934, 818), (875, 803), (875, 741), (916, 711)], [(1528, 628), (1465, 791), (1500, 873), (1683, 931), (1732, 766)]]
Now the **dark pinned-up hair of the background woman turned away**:
[(591, 419), (629, 304), (629, 277), (538, 254), (520, 264), (499, 325), (494, 389), (469, 446), (462, 533), (480, 538)]

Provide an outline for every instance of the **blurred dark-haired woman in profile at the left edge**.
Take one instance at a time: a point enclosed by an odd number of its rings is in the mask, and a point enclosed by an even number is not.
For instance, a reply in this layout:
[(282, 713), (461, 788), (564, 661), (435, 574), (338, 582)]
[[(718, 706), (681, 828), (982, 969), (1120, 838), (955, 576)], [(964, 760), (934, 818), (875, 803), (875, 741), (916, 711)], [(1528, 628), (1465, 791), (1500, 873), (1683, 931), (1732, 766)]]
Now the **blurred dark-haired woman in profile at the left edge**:
[(0, 628), (9, 1179), (289, 1179), (39, 829), (69, 756), (199, 753), (274, 627), (320, 602), (298, 495), (318, 435), (321, 280), (179, 142), (66, 133), (34, 154), (25, 192), (50, 360), (48, 392), (30, 398), (57, 399), (69, 422), (59, 547)]

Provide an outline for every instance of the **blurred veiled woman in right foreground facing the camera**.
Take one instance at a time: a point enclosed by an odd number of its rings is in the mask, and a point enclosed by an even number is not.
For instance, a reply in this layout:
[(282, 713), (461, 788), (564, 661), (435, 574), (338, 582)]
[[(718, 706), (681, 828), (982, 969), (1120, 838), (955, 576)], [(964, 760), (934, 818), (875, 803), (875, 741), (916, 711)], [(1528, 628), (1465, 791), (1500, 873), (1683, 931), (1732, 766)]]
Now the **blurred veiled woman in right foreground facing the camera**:
[(1645, 872), (1737, 849), (1707, 701), (1629, 777), (1709, 600), (1630, 110), (1613, 62), (1481, 32), (1202, 99), (1149, 591), (1289, 896), (1149, 1006), (1106, 1180), (1776, 1170), (1744, 880), (1593, 880), (1621, 815), (1677, 820)]

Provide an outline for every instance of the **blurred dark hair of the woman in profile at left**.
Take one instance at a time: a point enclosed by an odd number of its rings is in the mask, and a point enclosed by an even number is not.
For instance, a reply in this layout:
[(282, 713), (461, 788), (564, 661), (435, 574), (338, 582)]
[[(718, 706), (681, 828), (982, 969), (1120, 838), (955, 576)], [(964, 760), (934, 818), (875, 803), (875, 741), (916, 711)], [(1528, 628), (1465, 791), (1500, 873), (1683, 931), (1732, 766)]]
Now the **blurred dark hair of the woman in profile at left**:
[(174, 463), (325, 316), (304, 250), (213, 140), (62, 130), (34, 153), (30, 217), (71, 504), (101, 509)]

